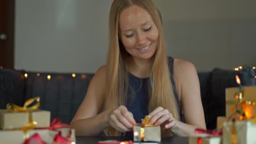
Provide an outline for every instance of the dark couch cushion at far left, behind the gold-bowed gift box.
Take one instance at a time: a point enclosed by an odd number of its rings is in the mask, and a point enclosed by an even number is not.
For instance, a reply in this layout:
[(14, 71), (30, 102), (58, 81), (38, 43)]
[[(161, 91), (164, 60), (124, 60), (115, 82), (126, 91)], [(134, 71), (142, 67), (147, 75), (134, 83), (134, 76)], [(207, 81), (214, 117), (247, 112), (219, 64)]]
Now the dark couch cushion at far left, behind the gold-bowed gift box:
[(23, 106), (24, 86), (24, 71), (0, 69), (0, 109), (5, 109), (7, 103)]

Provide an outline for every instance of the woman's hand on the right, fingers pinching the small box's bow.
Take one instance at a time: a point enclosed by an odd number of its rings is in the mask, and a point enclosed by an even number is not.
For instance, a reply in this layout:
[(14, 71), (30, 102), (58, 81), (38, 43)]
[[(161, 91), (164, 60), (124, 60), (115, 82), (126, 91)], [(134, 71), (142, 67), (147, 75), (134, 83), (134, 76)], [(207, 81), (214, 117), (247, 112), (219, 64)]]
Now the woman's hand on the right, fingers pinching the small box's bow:
[(163, 109), (163, 107), (157, 107), (153, 112), (149, 114), (149, 116), (149, 125), (164, 124), (164, 128), (171, 129), (177, 123), (173, 115), (167, 109)]

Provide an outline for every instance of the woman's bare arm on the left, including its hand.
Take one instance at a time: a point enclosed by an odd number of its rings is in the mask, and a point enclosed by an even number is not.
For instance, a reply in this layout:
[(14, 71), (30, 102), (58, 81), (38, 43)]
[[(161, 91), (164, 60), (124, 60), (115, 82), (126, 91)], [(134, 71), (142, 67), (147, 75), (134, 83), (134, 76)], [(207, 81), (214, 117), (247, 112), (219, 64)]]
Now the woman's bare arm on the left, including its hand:
[(125, 106), (100, 113), (106, 94), (105, 74), (106, 66), (102, 66), (91, 80), (85, 99), (70, 123), (78, 136), (97, 135), (109, 125), (120, 132), (131, 131), (136, 123)]

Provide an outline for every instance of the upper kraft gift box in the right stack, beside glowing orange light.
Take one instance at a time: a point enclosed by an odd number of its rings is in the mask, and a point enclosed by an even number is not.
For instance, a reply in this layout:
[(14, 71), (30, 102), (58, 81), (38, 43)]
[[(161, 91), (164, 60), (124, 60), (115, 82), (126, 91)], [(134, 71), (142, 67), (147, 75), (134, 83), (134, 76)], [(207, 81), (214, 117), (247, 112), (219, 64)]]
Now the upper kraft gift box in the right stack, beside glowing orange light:
[(241, 110), (243, 107), (247, 118), (256, 117), (256, 86), (242, 87), (241, 85), (239, 88), (226, 88), (226, 117), (235, 112), (235, 105), (240, 97), (242, 99), (237, 108)]

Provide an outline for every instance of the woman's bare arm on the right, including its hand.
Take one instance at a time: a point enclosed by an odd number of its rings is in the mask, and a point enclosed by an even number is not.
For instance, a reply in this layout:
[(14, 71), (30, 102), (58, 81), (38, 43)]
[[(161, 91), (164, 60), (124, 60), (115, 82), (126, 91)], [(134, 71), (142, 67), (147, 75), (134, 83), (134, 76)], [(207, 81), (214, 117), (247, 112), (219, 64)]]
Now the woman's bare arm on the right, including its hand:
[(164, 125), (177, 136), (189, 136), (195, 132), (196, 128), (205, 129), (205, 119), (200, 96), (200, 85), (195, 66), (189, 61), (175, 59), (174, 80), (177, 93), (181, 99), (182, 110), (186, 123), (182, 123), (173, 118), (173, 115), (162, 107), (158, 107), (149, 114), (150, 124)]

